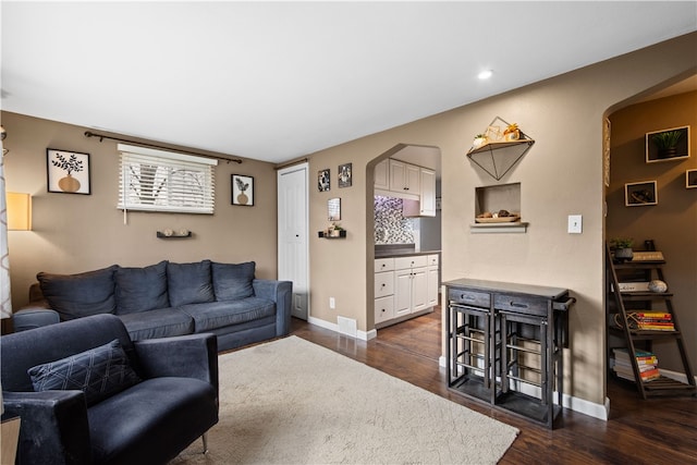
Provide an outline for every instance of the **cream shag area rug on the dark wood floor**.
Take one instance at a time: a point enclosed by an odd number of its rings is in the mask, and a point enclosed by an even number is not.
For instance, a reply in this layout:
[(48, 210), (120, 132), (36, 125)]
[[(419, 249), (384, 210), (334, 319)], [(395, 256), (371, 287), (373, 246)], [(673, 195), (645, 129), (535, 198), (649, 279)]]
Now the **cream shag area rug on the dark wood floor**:
[(518, 433), (290, 336), (221, 355), (220, 421), (171, 465), (496, 464)]

